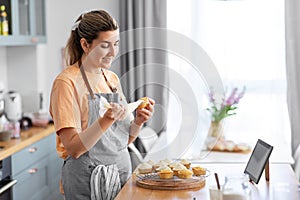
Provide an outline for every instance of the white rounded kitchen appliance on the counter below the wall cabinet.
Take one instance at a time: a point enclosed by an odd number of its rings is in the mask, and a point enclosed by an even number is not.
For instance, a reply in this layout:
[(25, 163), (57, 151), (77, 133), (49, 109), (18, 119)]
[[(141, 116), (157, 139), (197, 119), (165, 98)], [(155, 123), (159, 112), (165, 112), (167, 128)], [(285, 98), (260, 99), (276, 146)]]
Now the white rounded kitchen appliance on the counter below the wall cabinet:
[(10, 121), (18, 121), (22, 118), (21, 95), (15, 91), (9, 91), (4, 96), (4, 111)]

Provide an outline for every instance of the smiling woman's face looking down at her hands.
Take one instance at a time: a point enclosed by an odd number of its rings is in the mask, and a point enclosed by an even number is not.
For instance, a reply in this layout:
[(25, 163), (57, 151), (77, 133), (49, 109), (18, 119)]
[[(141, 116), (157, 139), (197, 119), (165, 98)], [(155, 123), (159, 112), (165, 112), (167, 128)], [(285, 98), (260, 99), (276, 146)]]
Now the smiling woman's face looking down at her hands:
[(96, 68), (110, 68), (119, 52), (119, 40), (119, 30), (100, 32), (98, 38), (89, 45), (88, 62)]

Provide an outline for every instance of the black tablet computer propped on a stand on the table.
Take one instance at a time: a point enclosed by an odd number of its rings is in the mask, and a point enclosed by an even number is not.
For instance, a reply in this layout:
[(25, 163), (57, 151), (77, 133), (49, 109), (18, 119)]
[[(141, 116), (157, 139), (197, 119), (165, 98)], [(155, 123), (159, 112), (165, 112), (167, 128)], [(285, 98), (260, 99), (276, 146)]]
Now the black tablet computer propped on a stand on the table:
[(256, 184), (259, 182), (272, 150), (273, 146), (258, 139), (244, 171), (245, 174), (249, 175), (250, 181)]

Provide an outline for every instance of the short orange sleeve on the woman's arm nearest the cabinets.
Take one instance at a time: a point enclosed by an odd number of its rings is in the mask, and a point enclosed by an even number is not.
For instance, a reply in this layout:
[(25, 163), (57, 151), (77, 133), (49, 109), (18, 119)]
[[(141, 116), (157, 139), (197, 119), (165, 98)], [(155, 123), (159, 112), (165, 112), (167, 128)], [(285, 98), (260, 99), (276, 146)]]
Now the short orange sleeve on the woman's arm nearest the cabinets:
[(81, 129), (81, 117), (75, 88), (65, 80), (56, 79), (50, 96), (50, 114), (55, 131), (62, 128)]

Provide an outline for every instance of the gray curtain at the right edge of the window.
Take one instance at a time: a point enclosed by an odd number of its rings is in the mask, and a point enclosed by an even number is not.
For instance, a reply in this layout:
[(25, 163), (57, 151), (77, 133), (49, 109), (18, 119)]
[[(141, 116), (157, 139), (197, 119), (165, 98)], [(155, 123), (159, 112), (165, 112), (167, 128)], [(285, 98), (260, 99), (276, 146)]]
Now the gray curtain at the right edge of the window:
[(300, 144), (300, 1), (285, 1), (287, 97), (292, 151)]

